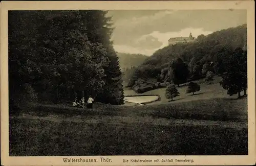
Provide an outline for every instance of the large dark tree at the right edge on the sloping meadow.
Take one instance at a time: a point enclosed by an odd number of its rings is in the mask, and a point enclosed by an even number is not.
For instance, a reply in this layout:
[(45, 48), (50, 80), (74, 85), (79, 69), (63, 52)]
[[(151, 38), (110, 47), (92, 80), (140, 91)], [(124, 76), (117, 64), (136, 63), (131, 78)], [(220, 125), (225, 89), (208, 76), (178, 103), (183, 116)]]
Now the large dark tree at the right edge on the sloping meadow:
[(220, 85), (227, 90), (227, 94), (232, 96), (238, 94), (241, 98), (240, 92), (244, 90), (246, 95), (247, 89), (247, 52), (242, 48), (237, 48), (233, 51), (232, 56), (228, 59), (226, 64), (227, 71), (222, 76)]

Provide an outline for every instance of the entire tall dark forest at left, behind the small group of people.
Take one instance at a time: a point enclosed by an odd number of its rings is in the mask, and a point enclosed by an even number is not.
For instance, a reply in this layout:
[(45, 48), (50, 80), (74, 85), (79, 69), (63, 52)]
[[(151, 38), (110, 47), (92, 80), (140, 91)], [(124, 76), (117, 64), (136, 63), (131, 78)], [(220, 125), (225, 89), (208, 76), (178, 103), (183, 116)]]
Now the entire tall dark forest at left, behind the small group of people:
[(9, 11), (10, 106), (24, 101), (123, 103), (107, 11)]

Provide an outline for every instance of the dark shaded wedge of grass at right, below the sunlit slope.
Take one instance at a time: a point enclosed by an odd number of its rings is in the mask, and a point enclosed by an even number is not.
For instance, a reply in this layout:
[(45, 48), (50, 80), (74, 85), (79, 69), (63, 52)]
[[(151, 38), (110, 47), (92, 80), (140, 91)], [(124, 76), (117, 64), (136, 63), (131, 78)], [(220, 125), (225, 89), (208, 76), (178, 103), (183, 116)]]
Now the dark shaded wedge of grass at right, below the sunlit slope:
[(150, 115), (164, 118), (194, 119), (207, 121), (247, 121), (246, 99), (209, 99), (191, 102), (147, 106), (154, 110)]

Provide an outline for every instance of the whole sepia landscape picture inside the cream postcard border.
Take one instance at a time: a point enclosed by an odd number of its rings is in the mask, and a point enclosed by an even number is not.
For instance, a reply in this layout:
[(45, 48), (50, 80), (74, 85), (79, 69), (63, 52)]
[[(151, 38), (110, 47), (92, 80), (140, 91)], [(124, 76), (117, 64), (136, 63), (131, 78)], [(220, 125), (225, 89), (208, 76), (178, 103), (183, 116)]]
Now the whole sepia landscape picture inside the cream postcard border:
[[(1, 124), (8, 125), (9, 143), (1, 146), (8, 144), (10, 157), (96, 164), (113, 159), (70, 156), (249, 155), (248, 98), (255, 105), (255, 85), (250, 89), (248, 80), (255, 76), (247, 68), (255, 66), (248, 67), (246, 9), (7, 14), (8, 95), (1, 97), (9, 119)], [(1, 49), (1, 63), (2, 56)]]

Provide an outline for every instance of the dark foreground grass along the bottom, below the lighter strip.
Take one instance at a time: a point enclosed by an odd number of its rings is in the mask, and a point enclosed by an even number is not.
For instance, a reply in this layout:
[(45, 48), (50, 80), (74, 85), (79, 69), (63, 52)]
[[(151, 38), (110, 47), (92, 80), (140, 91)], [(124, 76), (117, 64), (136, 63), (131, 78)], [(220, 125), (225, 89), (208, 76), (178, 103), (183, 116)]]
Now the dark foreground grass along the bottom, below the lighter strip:
[(247, 154), (246, 128), (40, 120), (11, 120), (11, 124), (11, 156)]

